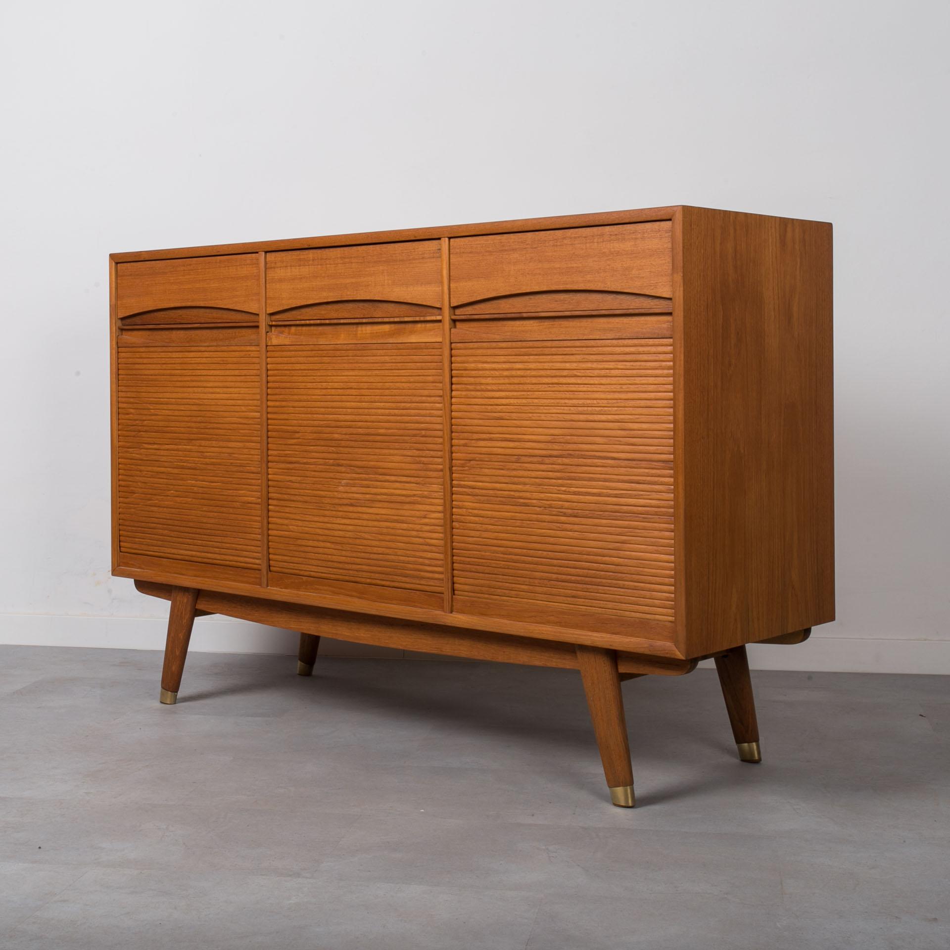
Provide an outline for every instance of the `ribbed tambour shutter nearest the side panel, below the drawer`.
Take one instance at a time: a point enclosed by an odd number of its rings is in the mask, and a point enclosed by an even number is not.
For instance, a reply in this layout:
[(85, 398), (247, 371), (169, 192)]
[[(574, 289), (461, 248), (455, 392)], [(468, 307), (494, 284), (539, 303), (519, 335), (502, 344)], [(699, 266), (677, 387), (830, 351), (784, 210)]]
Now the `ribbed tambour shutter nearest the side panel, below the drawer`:
[(674, 619), (672, 352), (453, 344), (457, 598)]

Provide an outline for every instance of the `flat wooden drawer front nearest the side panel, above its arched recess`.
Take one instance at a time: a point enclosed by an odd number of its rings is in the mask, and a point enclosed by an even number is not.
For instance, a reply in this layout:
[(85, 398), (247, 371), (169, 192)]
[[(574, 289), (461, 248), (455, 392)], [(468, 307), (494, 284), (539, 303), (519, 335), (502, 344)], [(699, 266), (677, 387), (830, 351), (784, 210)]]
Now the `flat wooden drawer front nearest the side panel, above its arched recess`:
[(542, 291), (669, 297), (673, 294), (671, 227), (669, 221), (651, 221), (456, 237), (451, 241), (451, 268), (453, 307), (487, 297)]

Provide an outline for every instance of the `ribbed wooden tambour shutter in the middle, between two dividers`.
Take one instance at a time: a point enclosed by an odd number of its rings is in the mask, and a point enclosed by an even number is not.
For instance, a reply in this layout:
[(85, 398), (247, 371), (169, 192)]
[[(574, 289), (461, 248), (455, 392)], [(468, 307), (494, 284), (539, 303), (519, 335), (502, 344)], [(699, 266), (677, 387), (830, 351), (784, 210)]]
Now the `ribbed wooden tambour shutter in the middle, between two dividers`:
[(268, 353), (270, 566), (443, 590), (442, 347)]

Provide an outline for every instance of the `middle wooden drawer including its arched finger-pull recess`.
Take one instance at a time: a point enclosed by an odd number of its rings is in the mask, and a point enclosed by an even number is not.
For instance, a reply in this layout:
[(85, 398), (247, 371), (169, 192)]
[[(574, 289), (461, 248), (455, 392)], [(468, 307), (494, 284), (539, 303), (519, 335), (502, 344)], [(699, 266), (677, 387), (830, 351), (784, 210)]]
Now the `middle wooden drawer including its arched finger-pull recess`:
[(267, 256), (276, 322), (441, 318), (437, 240), (278, 251)]

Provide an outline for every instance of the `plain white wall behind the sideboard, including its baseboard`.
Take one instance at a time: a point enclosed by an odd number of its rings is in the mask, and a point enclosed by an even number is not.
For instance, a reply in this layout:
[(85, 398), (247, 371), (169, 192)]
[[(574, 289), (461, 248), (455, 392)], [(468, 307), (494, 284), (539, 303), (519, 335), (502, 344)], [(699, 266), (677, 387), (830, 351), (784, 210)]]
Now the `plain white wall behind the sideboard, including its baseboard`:
[(110, 251), (692, 203), (835, 225), (840, 619), (753, 659), (950, 673), (943, 0), (0, 17), (0, 642), (161, 645), (109, 576)]

